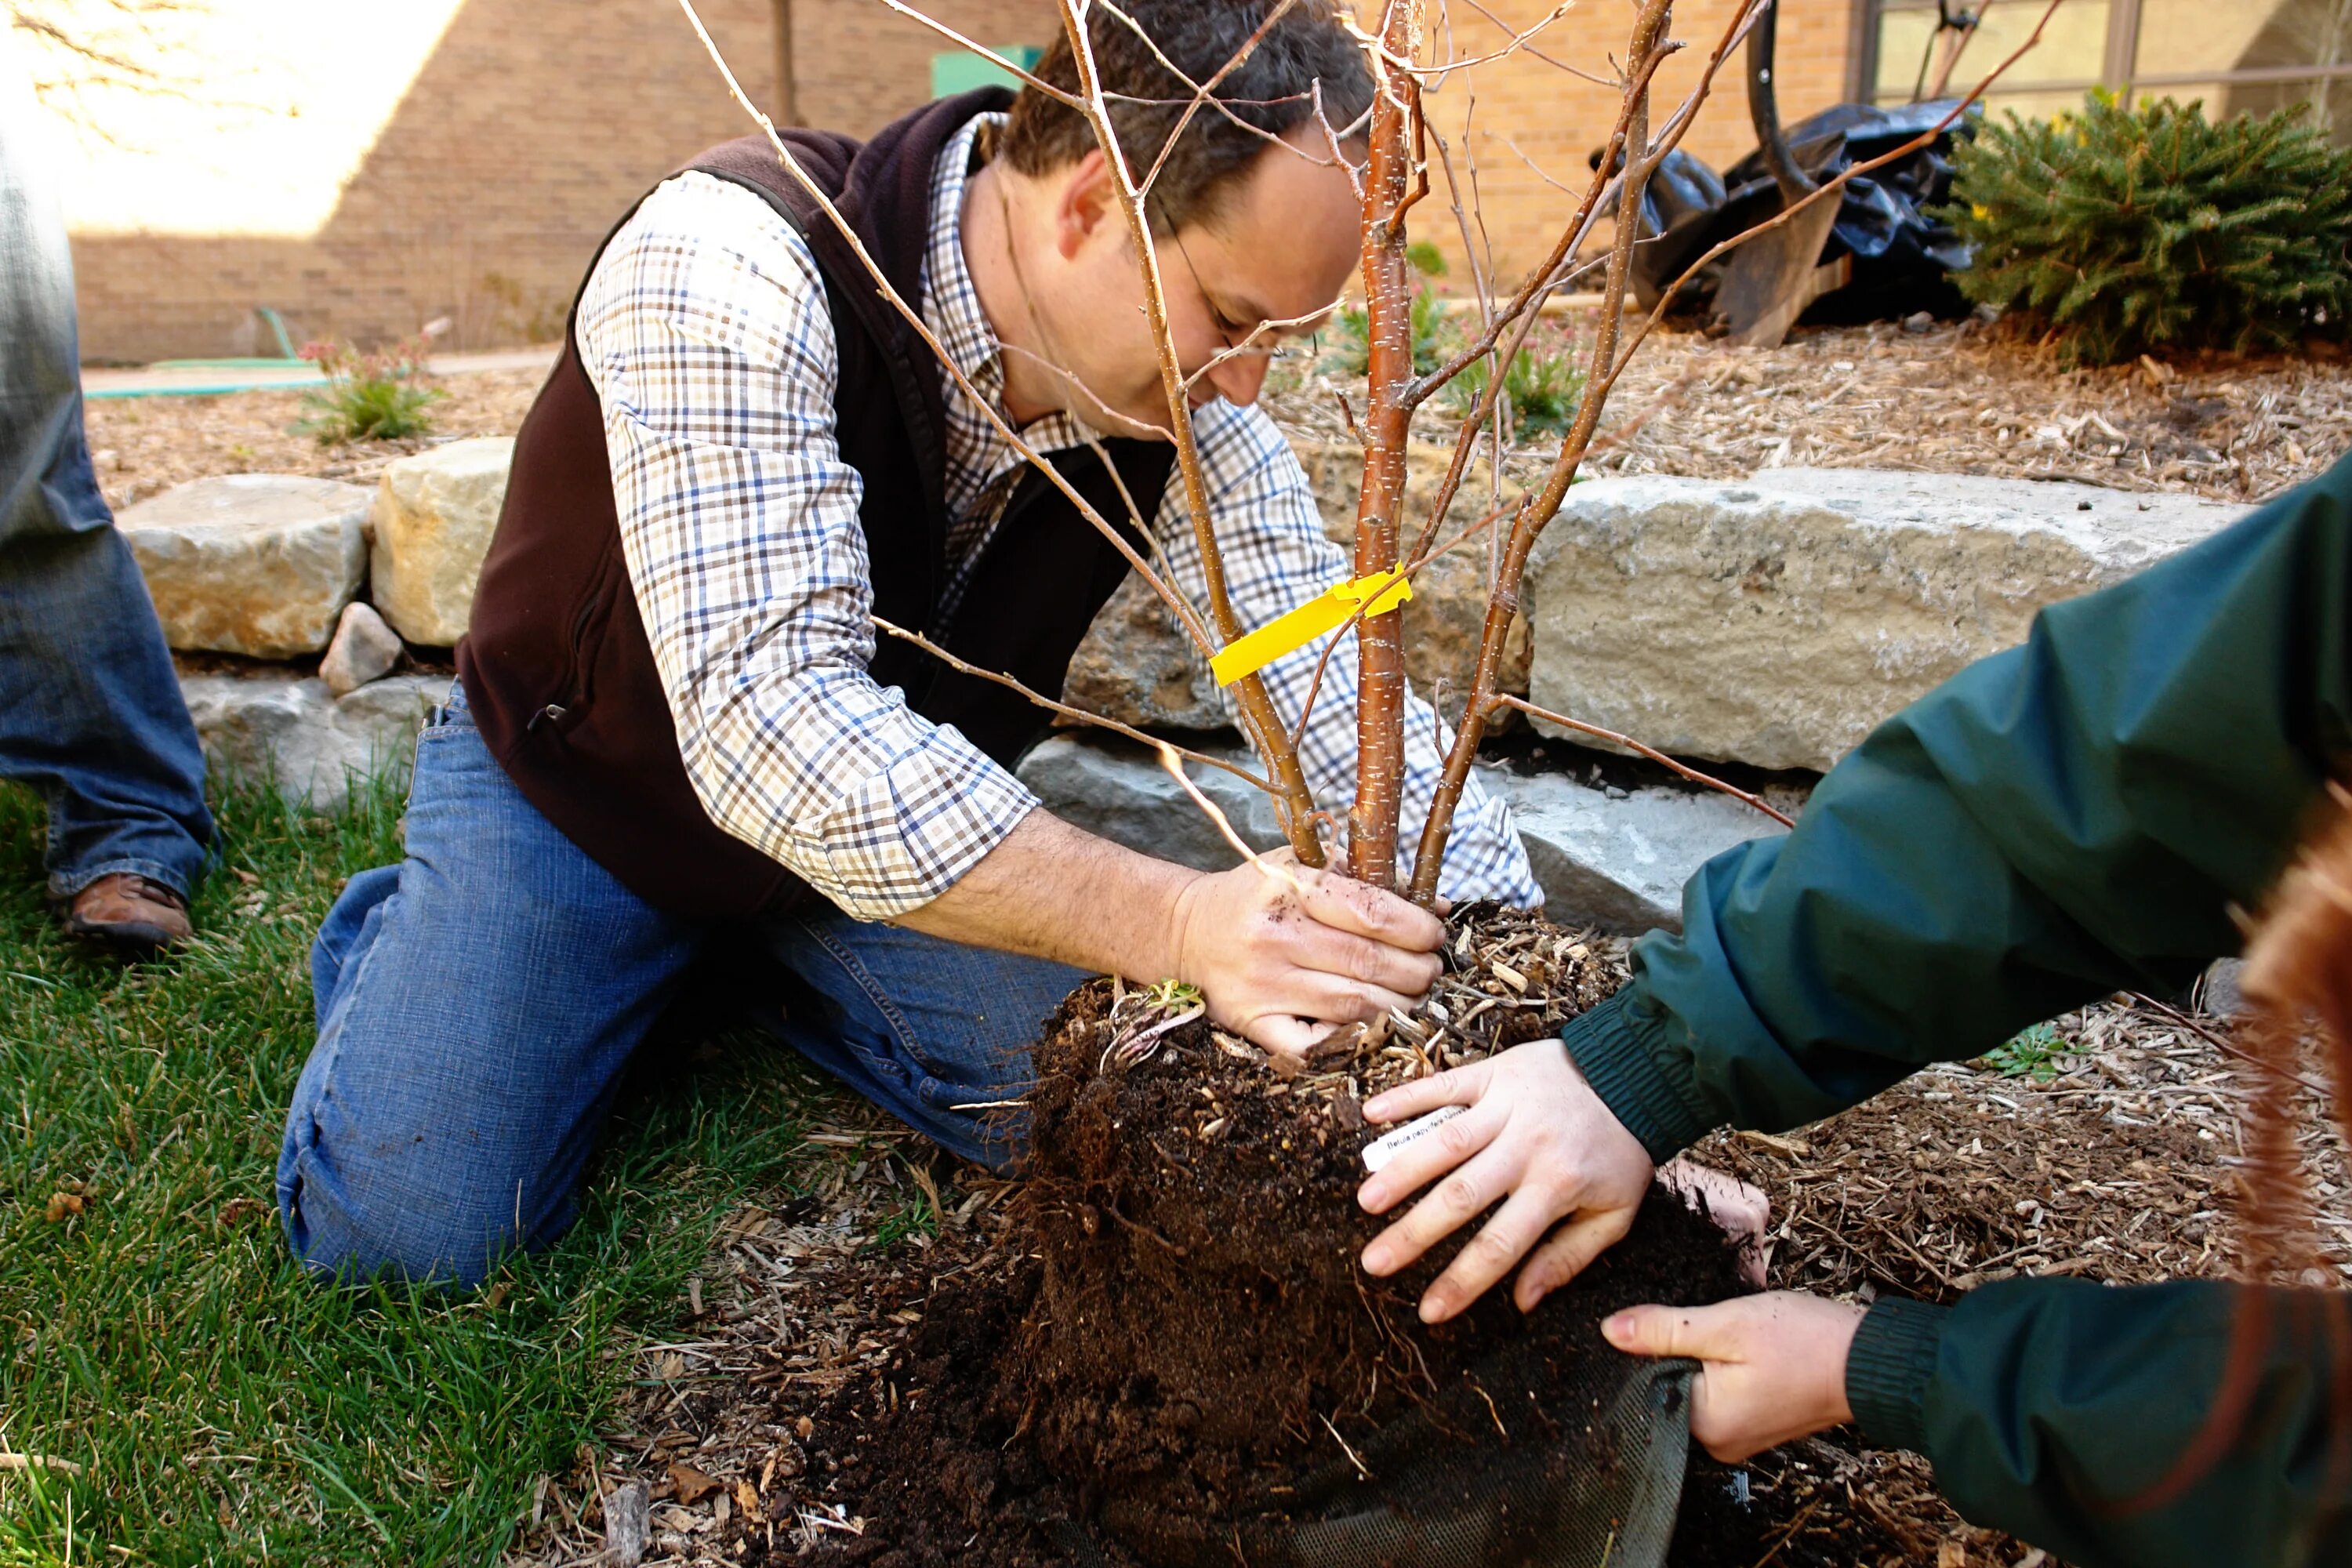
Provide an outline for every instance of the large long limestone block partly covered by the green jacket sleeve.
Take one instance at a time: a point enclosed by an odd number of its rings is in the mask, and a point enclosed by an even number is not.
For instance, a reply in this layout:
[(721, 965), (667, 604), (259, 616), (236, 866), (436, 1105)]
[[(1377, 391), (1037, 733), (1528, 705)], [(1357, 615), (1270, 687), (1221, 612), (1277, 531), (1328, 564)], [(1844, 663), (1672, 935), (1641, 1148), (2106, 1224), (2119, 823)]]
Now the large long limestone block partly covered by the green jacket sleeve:
[(1853, 468), (1578, 484), (1529, 562), (1531, 696), (1684, 757), (1828, 769), (2044, 604), (2244, 512)]

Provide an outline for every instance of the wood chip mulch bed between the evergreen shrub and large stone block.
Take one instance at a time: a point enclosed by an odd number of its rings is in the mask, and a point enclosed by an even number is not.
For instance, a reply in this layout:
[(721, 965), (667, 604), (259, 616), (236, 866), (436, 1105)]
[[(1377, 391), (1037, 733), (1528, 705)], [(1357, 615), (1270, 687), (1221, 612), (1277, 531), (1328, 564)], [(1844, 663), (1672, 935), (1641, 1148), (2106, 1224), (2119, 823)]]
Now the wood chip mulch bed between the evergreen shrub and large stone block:
[[(1592, 313), (1545, 322), (1531, 341), (1581, 362)], [(1362, 376), (1336, 360), (1329, 346), (1296, 353), (1265, 395), (1284, 428), (1315, 447), (1350, 440), (1343, 397), (1364, 407)], [(1454, 428), (1432, 400), (1414, 437), (1451, 451)], [(1555, 449), (1557, 440), (1522, 447), (1505, 475), (1524, 482)], [(2347, 449), (2352, 362), (2333, 346), (2310, 357), (2201, 355), (2067, 371), (2056, 350), (1969, 317), (1924, 331), (1804, 327), (1769, 350), (1658, 331), (1611, 393), (1585, 473), (1896, 468), (2265, 501)]]

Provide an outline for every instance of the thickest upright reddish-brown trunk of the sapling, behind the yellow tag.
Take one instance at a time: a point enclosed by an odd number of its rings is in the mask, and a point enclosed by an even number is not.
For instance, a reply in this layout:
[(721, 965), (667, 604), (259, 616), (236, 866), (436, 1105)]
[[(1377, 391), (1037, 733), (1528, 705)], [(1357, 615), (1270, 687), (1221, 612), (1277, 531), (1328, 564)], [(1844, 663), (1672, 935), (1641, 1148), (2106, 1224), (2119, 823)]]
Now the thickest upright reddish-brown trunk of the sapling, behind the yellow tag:
[[(1374, 52), (1371, 162), (1364, 172), (1367, 371), (1364, 484), (1355, 508), (1355, 574), (1397, 567), (1404, 510), (1404, 442), (1414, 421), (1414, 268), (1404, 256), (1404, 214), (1414, 205), (1414, 141), (1421, 85), (1421, 0), (1390, 0)], [(1348, 813), (1348, 875), (1376, 889), (1397, 884), (1397, 811), (1404, 802), (1404, 614), (1364, 616), (1355, 639), (1355, 809)]]

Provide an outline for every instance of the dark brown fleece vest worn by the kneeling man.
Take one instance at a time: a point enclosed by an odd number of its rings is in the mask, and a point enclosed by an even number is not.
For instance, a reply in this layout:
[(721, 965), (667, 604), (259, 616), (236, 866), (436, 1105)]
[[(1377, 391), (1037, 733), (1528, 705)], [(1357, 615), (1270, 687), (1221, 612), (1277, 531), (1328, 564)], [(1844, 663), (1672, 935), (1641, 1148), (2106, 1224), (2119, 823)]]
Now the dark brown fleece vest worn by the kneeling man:
[[(964, 122), (1007, 103), (1002, 89), (943, 99), (863, 146), (826, 132), (783, 134), (898, 296), (917, 303), (931, 167)], [(938, 362), (764, 136), (729, 141), (687, 167), (767, 197), (809, 242), (826, 277), (840, 346), (835, 433), (842, 458), (866, 484), (858, 522), (875, 614), (927, 632), (983, 670), (1061, 691), (1077, 642), (1120, 585), (1127, 562), (1030, 470), (974, 564), (960, 609), (943, 616), (948, 512)], [(564, 355), (522, 421), (473, 628), (456, 651), (466, 701), (492, 757), (522, 795), (647, 903), (701, 917), (781, 907), (804, 896), (807, 884), (713, 825), (677, 755), (677, 729), (621, 559), (604, 418), (581, 369), (576, 327), (574, 301)], [(757, 409), (743, 409), (746, 435), (757, 437)], [(1171, 449), (1122, 440), (1105, 449), (1148, 520), (1167, 487)], [(1056, 461), (1098, 515), (1115, 522), (1127, 515), (1117, 482), (1091, 451), (1065, 451)], [(1141, 548), (1143, 541), (1129, 534), (1129, 543)], [(901, 686), (915, 712), (955, 724), (1007, 766), (1044, 719), (1018, 693), (957, 675), (889, 637), (880, 639), (873, 677)]]

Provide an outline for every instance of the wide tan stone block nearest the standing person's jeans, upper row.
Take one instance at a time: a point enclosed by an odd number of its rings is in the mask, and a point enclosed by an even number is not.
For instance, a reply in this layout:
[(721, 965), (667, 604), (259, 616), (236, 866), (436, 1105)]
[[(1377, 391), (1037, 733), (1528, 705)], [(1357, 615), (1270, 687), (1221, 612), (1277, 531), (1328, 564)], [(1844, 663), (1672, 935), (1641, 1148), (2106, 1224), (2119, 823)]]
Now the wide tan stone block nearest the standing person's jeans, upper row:
[(367, 571), (367, 491), (334, 480), (193, 480), (115, 524), (174, 649), (318, 654)]

